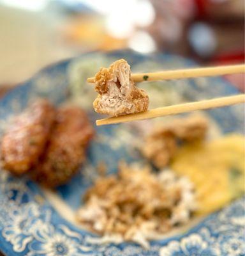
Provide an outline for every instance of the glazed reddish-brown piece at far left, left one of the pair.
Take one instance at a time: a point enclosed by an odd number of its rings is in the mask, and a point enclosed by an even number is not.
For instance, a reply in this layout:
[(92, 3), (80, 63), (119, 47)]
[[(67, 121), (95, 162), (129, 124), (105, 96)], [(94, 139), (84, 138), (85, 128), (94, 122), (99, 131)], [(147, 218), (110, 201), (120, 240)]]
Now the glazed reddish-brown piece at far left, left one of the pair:
[(54, 122), (55, 110), (47, 100), (37, 100), (17, 116), (1, 140), (1, 163), (15, 174), (37, 163)]

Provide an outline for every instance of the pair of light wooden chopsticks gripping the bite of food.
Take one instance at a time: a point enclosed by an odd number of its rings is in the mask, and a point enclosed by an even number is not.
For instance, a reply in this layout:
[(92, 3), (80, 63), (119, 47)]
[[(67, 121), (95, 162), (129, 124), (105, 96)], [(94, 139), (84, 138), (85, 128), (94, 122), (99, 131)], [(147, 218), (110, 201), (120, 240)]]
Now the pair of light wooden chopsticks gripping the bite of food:
[[(142, 81), (160, 81), (171, 79), (184, 79), (193, 77), (205, 76), (221, 76), (225, 74), (243, 73), (245, 71), (245, 64), (228, 65), (219, 67), (201, 67), (201, 68), (187, 68), (181, 70), (166, 70), (161, 72), (151, 72), (142, 74), (131, 74), (131, 78), (135, 82)], [(94, 77), (87, 79), (89, 83), (95, 83)], [(160, 116), (175, 115), (196, 111), (200, 109), (219, 108), (223, 106), (230, 106), (245, 102), (245, 94), (234, 95), (229, 97), (220, 97), (211, 100), (201, 100), (197, 102), (189, 102), (184, 104), (177, 104), (174, 106), (167, 106), (163, 108), (151, 109), (141, 113), (135, 113), (123, 116), (114, 116), (111, 118), (104, 118), (96, 120), (96, 125), (117, 124), (136, 120), (150, 119)]]

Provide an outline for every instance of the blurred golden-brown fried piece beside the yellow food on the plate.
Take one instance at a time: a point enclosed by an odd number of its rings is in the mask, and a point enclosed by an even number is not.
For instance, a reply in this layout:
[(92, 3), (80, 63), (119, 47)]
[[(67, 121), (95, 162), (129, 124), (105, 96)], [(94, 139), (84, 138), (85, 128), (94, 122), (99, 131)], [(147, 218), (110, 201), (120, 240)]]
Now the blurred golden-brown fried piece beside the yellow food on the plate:
[(170, 124), (154, 129), (145, 136), (140, 151), (156, 167), (165, 167), (177, 149), (177, 141), (203, 140), (207, 133), (207, 119), (199, 115), (173, 120)]

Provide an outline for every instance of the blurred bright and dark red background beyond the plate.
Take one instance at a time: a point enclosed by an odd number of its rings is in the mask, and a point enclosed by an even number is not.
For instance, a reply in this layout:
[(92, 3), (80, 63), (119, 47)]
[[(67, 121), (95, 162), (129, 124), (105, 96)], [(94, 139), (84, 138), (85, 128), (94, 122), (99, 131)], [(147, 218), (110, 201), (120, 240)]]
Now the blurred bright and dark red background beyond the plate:
[[(0, 0), (0, 93), (88, 51), (244, 62), (244, 0)], [(244, 75), (226, 76), (244, 91)]]

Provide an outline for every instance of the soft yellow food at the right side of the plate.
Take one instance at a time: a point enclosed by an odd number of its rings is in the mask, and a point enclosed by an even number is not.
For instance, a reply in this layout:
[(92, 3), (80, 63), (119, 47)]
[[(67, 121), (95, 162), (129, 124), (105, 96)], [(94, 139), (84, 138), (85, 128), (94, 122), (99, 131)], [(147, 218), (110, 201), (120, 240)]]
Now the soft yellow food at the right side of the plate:
[(195, 185), (197, 214), (215, 211), (244, 193), (244, 145), (244, 136), (230, 134), (179, 148), (171, 168)]

